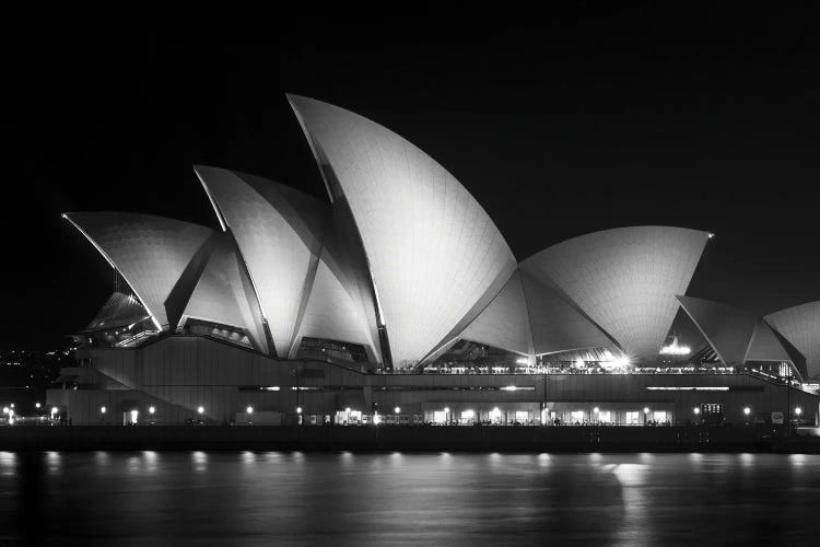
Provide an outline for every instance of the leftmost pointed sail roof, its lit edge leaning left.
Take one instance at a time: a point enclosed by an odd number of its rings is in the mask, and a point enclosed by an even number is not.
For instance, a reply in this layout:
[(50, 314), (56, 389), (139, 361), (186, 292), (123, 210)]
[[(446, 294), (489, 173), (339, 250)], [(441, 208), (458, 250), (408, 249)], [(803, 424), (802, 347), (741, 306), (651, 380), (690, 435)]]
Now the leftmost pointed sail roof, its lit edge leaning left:
[(192, 289), (191, 266), (203, 258), (213, 230), (130, 212), (73, 212), (63, 217), (120, 272), (157, 327), (168, 329), (169, 323), (176, 327)]

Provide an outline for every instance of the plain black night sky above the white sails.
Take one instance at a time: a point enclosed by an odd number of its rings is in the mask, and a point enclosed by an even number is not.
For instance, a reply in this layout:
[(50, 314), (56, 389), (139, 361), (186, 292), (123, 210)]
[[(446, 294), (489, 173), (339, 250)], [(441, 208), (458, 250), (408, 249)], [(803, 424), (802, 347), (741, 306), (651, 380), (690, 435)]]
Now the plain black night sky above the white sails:
[(595, 230), (681, 225), (716, 233), (689, 294), (762, 311), (818, 300), (820, 18), (808, 5), (574, 3), (523, 16), (531, 26), (433, 9), (380, 22), (10, 20), (0, 347), (58, 345), (112, 290), (63, 211), (216, 228), (195, 163), (324, 197), (285, 92), (426, 151), (519, 259)]

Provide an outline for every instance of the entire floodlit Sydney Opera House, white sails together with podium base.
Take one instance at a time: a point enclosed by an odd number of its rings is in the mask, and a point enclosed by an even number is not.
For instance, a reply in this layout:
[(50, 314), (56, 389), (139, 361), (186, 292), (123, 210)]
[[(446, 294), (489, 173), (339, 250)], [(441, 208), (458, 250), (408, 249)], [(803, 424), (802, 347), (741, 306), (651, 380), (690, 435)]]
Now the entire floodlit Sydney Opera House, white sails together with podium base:
[[(48, 393), (73, 423), (815, 424), (820, 302), (687, 295), (711, 233), (630, 226), (520, 260), (378, 124), (290, 95), (328, 199), (195, 171), (213, 228), (72, 212), (115, 291)], [(702, 347), (679, 344), (680, 310)], [(671, 333), (670, 333), (671, 331)], [(785, 418), (784, 418), (785, 416)]]

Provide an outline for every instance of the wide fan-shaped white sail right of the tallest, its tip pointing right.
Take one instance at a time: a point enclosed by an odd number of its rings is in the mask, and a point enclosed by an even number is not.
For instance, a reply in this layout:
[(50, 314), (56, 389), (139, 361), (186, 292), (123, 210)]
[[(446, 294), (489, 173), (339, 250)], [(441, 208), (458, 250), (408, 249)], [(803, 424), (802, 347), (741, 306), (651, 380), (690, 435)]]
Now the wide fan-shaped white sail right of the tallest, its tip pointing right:
[(668, 226), (605, 230), (522, 263), (549, 280), (632, 358), (654, 362), (710, 234)]

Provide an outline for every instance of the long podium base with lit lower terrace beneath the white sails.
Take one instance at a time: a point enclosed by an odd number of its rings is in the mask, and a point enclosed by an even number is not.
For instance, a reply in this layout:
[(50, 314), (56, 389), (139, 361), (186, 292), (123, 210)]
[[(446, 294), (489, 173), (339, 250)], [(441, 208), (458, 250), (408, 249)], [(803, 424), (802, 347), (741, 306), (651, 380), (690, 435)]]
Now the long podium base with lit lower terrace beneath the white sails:
[(73, 424), (815, 426), (820, 398), (751, 373), (370, 374), (206, 337), (78, 352), (48, 419)]

